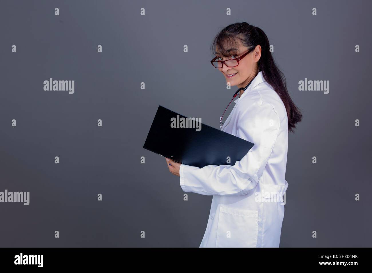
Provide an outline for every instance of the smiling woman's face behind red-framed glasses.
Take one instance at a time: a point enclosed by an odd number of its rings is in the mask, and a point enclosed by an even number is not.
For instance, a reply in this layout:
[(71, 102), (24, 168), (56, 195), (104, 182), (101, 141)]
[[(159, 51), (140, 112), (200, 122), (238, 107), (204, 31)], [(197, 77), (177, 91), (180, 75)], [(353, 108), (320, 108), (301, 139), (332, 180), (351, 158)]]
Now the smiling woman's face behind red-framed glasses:
[[(218, 54), (216, 61), (226, 61), (228, 59), (237, 59), (248, 51), (246, 46), (243, 46), (239, 40), (239, 47), (237, 50), (231, 49), (230, 56), (221, 56)], [(257, 45), (256, 48), (249, 52), (243, 59), (239, 61), (239, 64), (234, 67), (228, 67), (225, 64), (222, 68), (218, 68), (219, 71), (224, 74), (226, 82), (230, 82), (231, 86), (237, 85), (238, 87), (246, 87), (246, 84), (256, 76), (257, 62), (261, 56), (261, 46)], [(234, 74), (231, 76), (231, 74)], [(244, 86), (243, 86), (244, 85)]]

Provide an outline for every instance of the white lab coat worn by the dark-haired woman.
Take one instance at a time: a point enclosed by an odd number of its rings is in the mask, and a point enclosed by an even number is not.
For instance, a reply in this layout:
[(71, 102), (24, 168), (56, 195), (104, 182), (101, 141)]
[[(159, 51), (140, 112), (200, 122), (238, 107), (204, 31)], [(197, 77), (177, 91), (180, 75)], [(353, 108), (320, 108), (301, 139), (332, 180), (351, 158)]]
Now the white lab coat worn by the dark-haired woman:
[(279, 247), (288, 188), (285, 106), (261, 71), (234, 102), (221, 130), (254, 146), (233, 166), (182, 164), (180, 186), (213, 195), (200, 247)]

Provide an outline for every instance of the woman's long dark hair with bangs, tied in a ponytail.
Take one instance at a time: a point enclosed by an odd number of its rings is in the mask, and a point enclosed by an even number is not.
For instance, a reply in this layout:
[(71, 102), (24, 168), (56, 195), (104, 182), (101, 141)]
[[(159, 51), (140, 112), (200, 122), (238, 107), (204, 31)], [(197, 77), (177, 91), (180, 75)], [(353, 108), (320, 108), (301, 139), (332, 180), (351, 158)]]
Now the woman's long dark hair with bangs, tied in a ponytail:
[(288, 131), (294, 133), (295, 124), (302, 120), (302, 114), (288, 94), (286, 79), (275, 64), (269, 51), (269, 39), (262, 29), (246, 22), (228, 25), (215, 36), (211, 47), (212, 55), (215, 55), (215, 49), (218, 47), (222, 56), (230, 56), (231, 52), (228, 52), (228, 49), (238, 48), (237, 39), (240, 39), (243, 45), (249, 49), (256, 48), (257, 45), (261, 46), (262, 51), (260, 60), (257, 62), (257, 72), (262, 71), (265, 81), (282, 99), (288, 116)]

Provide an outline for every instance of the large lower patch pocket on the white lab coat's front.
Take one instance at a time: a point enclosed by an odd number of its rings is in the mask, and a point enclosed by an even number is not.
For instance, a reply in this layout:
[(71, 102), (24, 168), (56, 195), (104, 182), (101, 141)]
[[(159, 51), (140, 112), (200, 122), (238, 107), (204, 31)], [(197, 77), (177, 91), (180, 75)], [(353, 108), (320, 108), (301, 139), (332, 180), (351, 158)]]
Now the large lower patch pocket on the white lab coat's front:
[(220, 206), (216, 247), (257, 247), (258, 211)]

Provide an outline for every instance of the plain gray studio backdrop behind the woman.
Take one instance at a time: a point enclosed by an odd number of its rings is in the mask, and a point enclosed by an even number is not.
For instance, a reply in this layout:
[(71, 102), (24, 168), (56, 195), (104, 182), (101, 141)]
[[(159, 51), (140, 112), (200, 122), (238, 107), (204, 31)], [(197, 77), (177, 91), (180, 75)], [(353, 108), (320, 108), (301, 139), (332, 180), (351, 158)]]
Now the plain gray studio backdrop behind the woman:
[[(29, 191), (30, 205), (0, 203), (0, 246), (198, 247), (212, 196), (183, 201), (179, 177), (142, 146), (159, 104), (219, 129), (235, 87), (210, 45), (245, 21), (266, 32), (304, 115), (288, 138), (280, 247), (371, 247), (371, 6), (1, 1), (0, 191)], [(75, 93), (44, 91), (49, 78), (75, 80)], [(299, 91), (305, 78), (329, 80), (329, 94)]]

